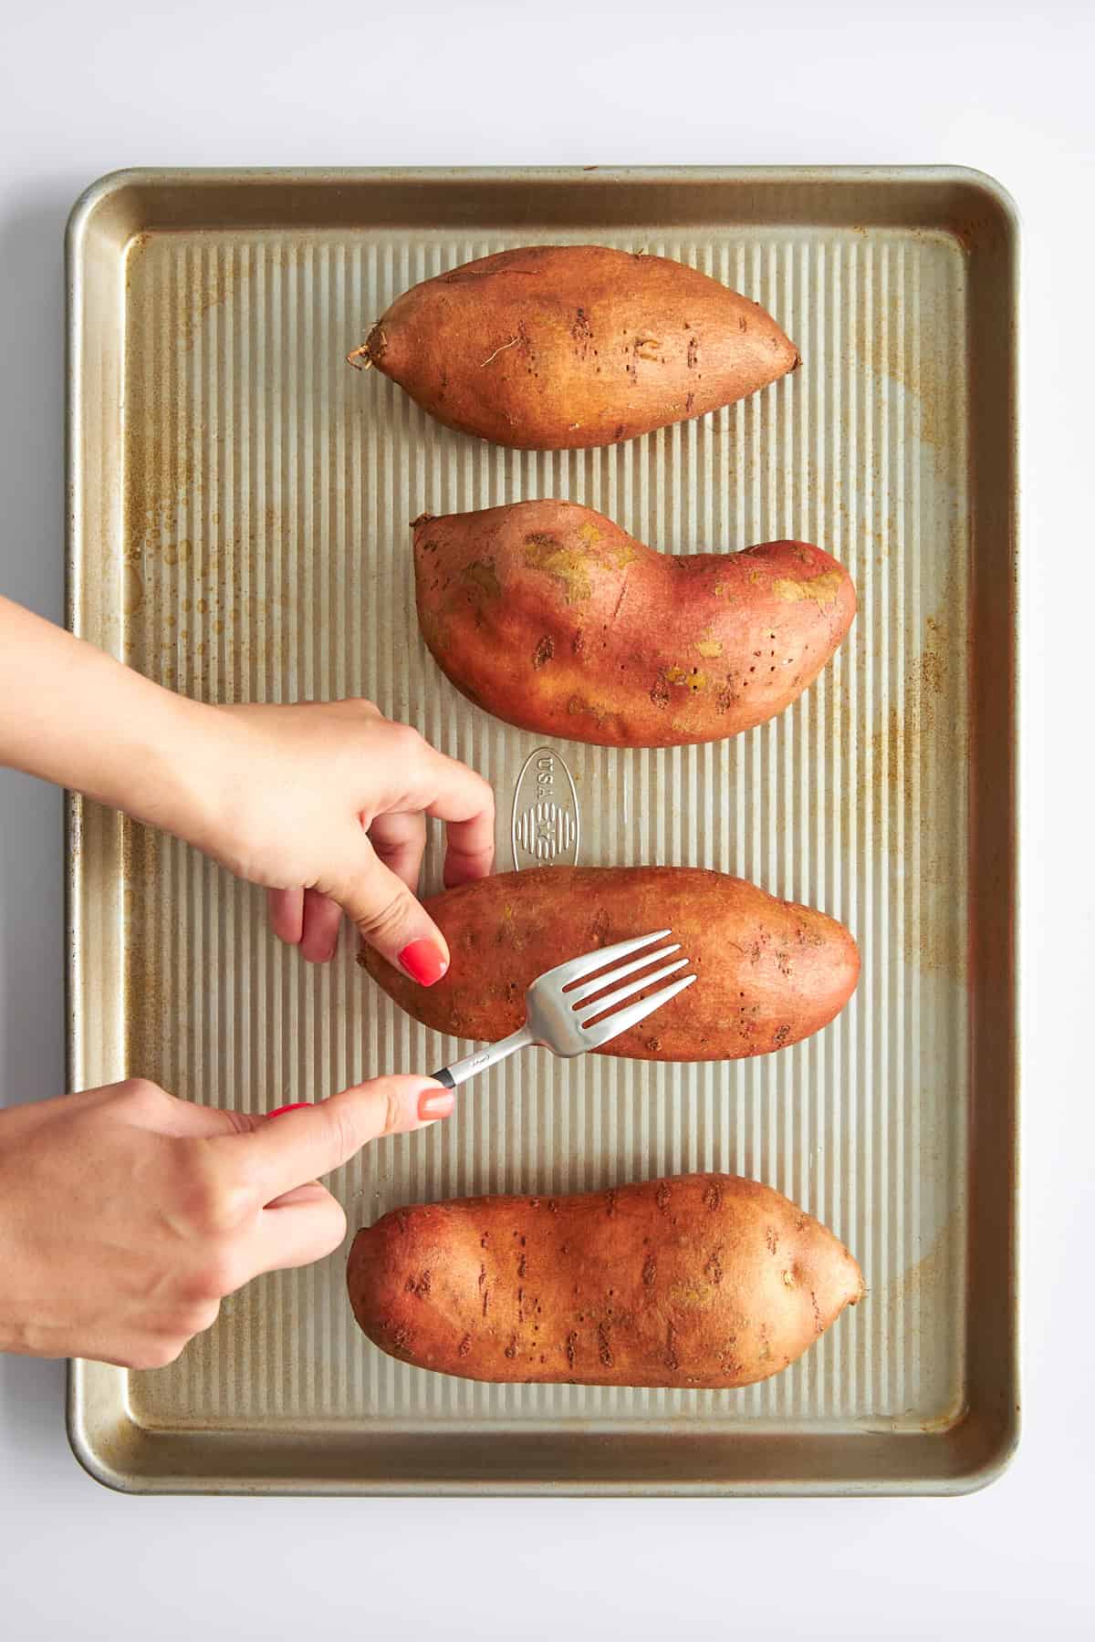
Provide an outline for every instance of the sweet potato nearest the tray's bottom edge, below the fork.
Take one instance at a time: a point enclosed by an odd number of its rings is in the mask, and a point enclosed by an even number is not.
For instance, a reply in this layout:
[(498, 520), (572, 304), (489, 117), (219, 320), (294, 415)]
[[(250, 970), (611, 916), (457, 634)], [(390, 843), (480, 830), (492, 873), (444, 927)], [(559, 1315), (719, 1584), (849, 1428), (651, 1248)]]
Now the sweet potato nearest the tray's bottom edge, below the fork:
[(346, 1282), (369, 1340), (417, 1368), (704, 1391), (778, 1374), (864, 1296), (832, 1232), (734, 1174), (396, 1209)]

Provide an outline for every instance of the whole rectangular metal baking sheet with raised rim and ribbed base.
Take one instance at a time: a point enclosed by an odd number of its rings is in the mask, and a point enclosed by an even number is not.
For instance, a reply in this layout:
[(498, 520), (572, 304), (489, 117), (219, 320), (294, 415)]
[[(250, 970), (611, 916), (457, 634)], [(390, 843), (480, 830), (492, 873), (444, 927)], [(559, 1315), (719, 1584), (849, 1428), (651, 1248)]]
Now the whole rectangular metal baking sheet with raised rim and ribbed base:
[[(453, 433), (343, 363), (419, 279), (591, 240), (755, 297), (803, 368), (629, 445), (537, 455)], [(1010, 200), (951, 169), (135, 171), (79, 202), (72, 626), (205, 701), (371, 696), (494, 783), (501, 865), (535, 847), (511, 805), (538, 742), (430, 660), (415, 514), (553, 494), (680, 553), (804, 537), (860, 601), (770, 724), (543, 752), (560, 793), (573, 780), (583, 862), (717, 867), (844, 920), (864, 954), (849, 1008), (747, 1062), (511, 1061), (333, 1189), (356, 1227), (461, 1192), (735, 1171), (849, 1243), (864, 1304), (745, 1391), (488, 1386), (376, 1351), (340, 1253), (251, 1284), (167, 1369), (76, 1363), (71, 1437), (103, 1483), (896, 1493), (975, 1488), (1006, 1461), (1015, 281)], [(263, 1112), (466, 1049), (397, 1013), (351, 943), (328, 969), (279, 949), (259, 893), (171, 839), (74, 801), (69, 855), (74, 1087), (144, 1074)], [(437, 872), (433, 844), (427, 887)]]

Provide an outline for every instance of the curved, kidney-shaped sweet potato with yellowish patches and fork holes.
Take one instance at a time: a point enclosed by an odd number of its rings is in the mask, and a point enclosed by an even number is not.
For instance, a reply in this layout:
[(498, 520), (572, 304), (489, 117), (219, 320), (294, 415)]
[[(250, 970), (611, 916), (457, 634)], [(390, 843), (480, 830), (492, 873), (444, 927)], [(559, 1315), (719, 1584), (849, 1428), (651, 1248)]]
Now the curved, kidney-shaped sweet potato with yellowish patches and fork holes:
[(855, 616), (806, 542), (658, 553), (591, 507), (532, 501), (414, 524), (419, 624), (471, 701), (604, 747), (721, 741), (790, 706)]

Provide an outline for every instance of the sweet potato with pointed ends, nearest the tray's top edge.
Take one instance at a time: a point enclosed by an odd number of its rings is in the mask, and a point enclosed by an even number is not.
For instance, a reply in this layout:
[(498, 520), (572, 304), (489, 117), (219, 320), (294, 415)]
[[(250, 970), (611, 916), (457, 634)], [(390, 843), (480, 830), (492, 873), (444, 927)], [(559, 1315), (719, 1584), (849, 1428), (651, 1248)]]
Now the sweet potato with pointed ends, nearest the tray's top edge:
[(744, 399), (798, 353), (762, 307), (683, 263), (534, 245), (405, 291), (350, 361), (465, 433), (583, 450)]

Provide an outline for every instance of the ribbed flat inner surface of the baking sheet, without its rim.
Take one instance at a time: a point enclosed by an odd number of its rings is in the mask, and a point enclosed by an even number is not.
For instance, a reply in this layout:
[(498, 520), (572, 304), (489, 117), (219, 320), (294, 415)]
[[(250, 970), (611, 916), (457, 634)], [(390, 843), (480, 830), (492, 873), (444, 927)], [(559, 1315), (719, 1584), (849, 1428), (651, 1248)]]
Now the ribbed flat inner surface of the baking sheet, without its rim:
[[(680, 258), (755, 297), (803, 368), (699, 422), (602, 452), (511, 453), (425, 417), (343, 356), (419, 279), (534, 240)], [(414, 614), (409, 522), (529, 496), (586, 502), (667, 552), (801, 537), (859, 589), (852, 635), (790, 711), (670, 752), (552, 744), (584, 864), (740, 874), (844, 920), (859, 992), (819, 1036), (717, 1066), (527, 1054), (428, 1133), (333, 1177), (351, 1228), (465, 1192), (568, 1192), (726, 1169), (765, 1181), (859, 1256), (867, 1299), (808, 1355), (734, 1392), (484, 1386), (422, 1373), (356, 1330), (345, 1254), (227, 1300), (181, 1361), (133, 1374), (146, 1425), (690, 1417), (924, 1429), (962, 1399), (967, 1097), (967, 581), (964, 256), (947, 235), (520, 228), (186, 232), (128, 250), (123, 654), (207, 701), (364, 695), (474, 765), (509, 806), (537, 737), (442, 677)], [(113, 409), (107, 407), (105, 415)], [(117, 576), (117, 586), (113, 578)], [(259, 892), (128, 829), (126, 1069), (263, 1112), (466, 1046), (417, 1026), (355, 964), (269, 936)], [(437, 887), (432, 841), (425, 883)], [(470, 1424), (471, 1422), (471, 1424)]]

